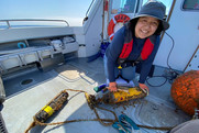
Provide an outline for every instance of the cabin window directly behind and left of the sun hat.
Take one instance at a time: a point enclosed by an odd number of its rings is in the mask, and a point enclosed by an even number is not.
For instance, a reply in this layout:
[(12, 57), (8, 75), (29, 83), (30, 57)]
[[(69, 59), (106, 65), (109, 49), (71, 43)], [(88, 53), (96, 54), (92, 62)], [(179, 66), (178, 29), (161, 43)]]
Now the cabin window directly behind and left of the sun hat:
[(112, 0), (111, 14), (134, 13), (136, 0)]

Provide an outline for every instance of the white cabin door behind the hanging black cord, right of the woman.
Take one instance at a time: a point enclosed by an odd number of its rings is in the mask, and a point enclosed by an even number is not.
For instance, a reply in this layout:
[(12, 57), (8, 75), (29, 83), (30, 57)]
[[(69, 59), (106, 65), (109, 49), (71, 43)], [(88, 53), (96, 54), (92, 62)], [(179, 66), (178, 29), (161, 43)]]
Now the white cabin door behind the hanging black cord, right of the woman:
[(176, 0), (169, 24), (154, 64), (184, 71), (199, 45), (199, 0)]

